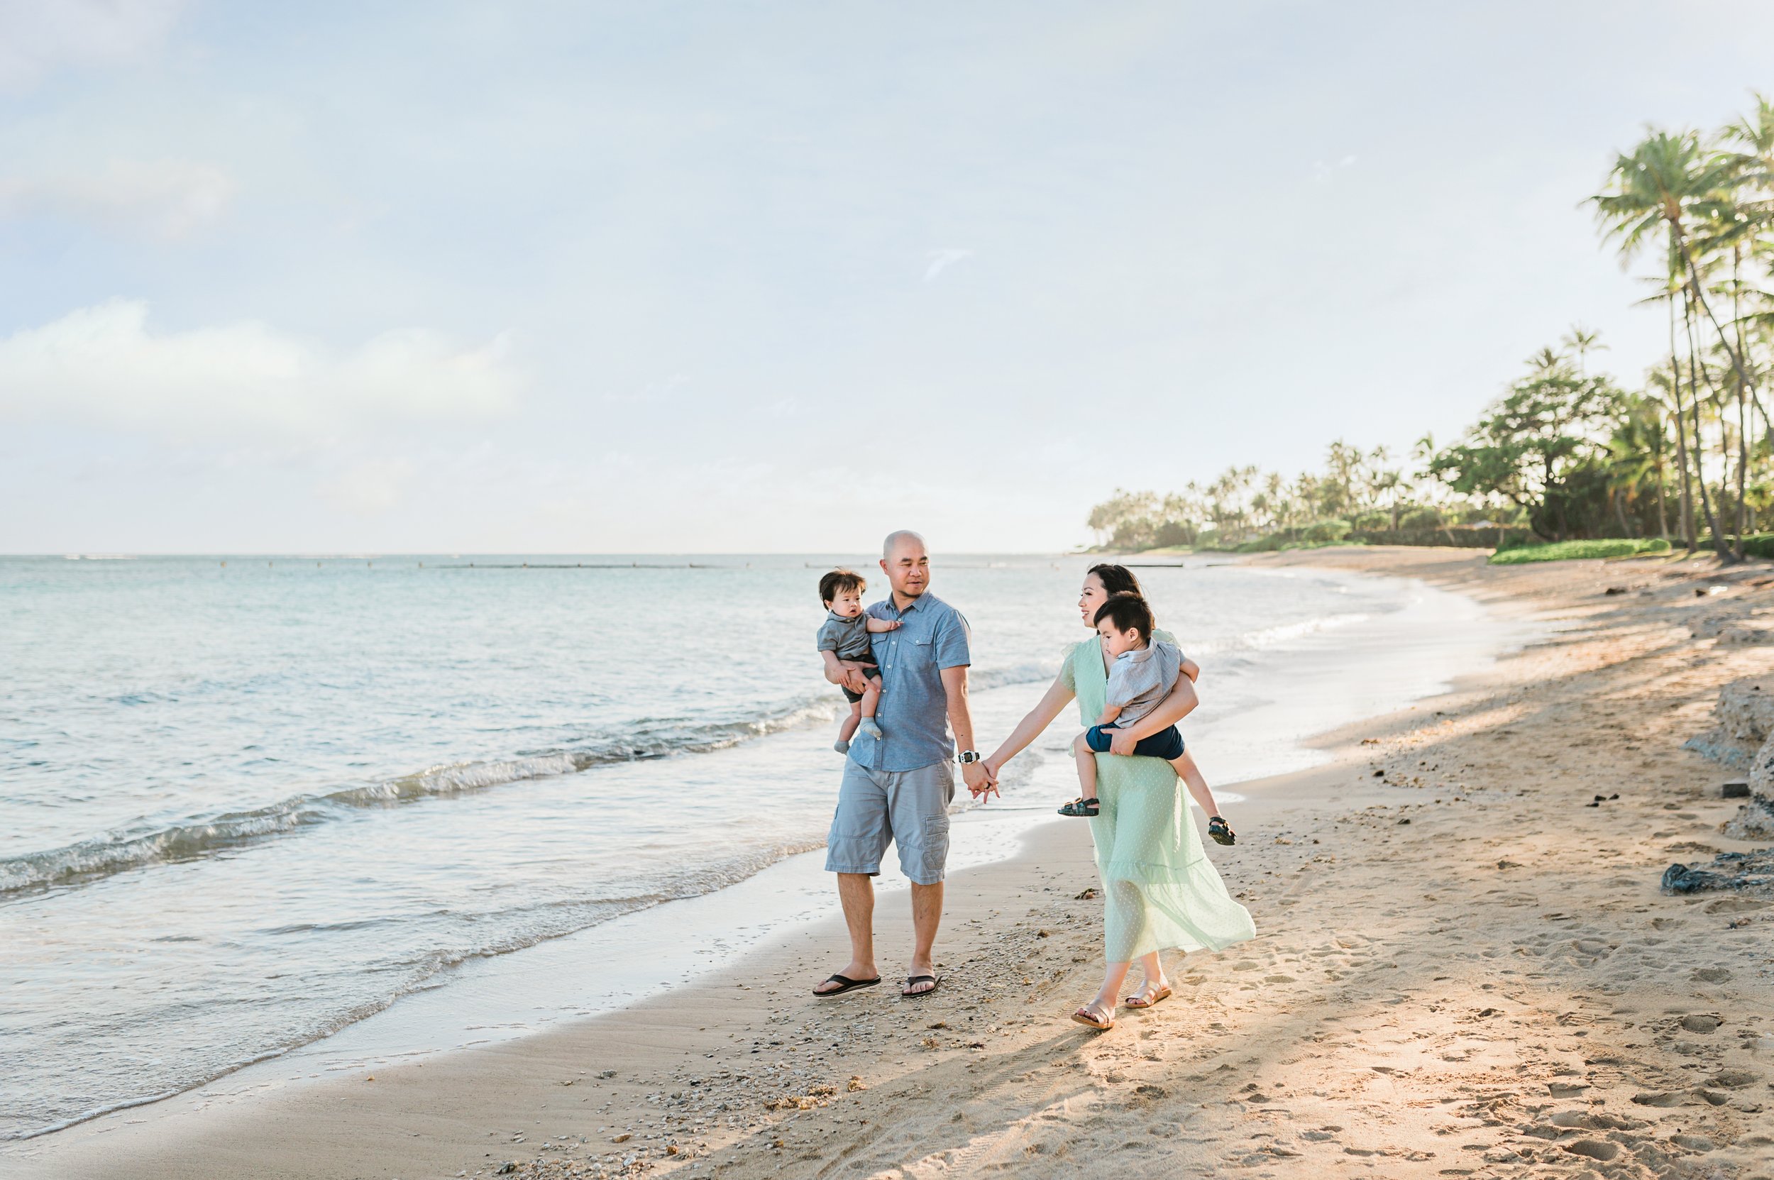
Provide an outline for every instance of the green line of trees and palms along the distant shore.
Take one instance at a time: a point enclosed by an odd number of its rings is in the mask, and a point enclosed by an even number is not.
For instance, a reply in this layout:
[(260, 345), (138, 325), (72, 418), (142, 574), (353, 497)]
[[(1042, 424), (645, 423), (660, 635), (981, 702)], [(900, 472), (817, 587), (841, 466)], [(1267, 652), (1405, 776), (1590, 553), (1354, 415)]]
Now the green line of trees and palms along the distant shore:
[(1607, 344), (1574, 326), (1535, 353), (1458, 440), (1327, 449), (1286, 479), (1233, 467), (1181, 492), (1095, 506), (1100, 545), (1251, 547), (1265, 539), (1398, 538), (1519, 529), (1529, 539), (1666, 538), (1740, 559), (1774, 552), (1774, 103), (1756, 94), (1712, 133), (1646, 128), (1588, 204), (1621, 266), (1648, 268), (1668, 355), (1637, 389), (1593, 364)]

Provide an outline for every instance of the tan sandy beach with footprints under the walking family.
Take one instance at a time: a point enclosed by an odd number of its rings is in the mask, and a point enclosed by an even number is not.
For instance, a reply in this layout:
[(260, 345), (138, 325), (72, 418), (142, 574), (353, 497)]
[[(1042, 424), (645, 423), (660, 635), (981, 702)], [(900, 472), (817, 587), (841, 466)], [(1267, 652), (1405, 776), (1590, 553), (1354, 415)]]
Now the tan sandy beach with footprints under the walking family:
[[(1212, 854), (1260, 937), (1178, 958), (1174, 999), (1107, 1033), (1066, 1020), (1100, 972), (1100, 901), (1087, 827), (1054, 822), (951, 878), (922, 1001), (809, 995), (843, 965), (834, 919), (619, 1013), (374, 1074), (224, 1077), (11, 1145), (0, 1169), (1774, 1176), (1774, 898), (1659, 889), (1671, 862), (1753, 846), (1719, 830), (1740, 772), (1684, 742), (1724, 683), (1774, 673), (1774, 648), (1715, 639), (1774, 612), (1774, 573), (1254, 559), (1290, 562), (1425, 578), (1558, 630), (1325, 735), (1320, 768), (1240, 784), (1240, 843)], [(878, 907), (885, 971), (905, 910)]]

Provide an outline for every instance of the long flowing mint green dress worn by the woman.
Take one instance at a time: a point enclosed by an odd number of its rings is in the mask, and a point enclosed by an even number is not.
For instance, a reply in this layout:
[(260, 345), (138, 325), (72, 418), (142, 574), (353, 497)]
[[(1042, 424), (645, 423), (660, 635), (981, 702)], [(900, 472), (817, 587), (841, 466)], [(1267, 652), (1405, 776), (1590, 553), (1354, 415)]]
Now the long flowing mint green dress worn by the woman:
[[(1164, 632), (1155, 637), (1171, 639)], [(1171, 641), (1174, 642), (1174, 641)], [(1086, 726), (1103, 712), (1109, 674), (1100, 639), (1071, 649), (1061, 673)], [(1162, 758), (1096, 756), (1100, 813), (1091, 820), (1103, 880), (1103, 960), (1151, 951), (1219, 951), (1256, 937), (1201, 848), (1183, 781)]]

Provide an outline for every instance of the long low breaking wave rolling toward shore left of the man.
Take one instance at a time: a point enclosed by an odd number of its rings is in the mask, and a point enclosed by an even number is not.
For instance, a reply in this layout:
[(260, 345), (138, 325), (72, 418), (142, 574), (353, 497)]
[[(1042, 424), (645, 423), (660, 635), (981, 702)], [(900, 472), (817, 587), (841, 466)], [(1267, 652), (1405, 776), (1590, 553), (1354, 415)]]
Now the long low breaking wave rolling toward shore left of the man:
[[(976, 688), (999, 688), (1031, 683), (1047, 680), (1056, 669), (1057, 662), (986, 669), (972, 678), (972, 685)], [(294, 795), (248, 811), (193, 816), (149, 832), (108, 832), (62, 848), (0, 861), (0, 896), (112, 877), (147, 864), (192, 861), (325, 823), (365, 807), (390, 807), (420, 798), (463, 795), (646, 758), (708, 754), (784, 729), (828, 722), (836, 717), (836, 710), (837, 703), (828, 694), (821, 694), (765, 717), (717, 720), (701, 726), (655, 722), (651, 728), (639, 726), (624, 729), (621, 735), (596, 738), (580, 749), (498, 761), (451, 763), (383, 783), (348, 786), (318, 795)]]

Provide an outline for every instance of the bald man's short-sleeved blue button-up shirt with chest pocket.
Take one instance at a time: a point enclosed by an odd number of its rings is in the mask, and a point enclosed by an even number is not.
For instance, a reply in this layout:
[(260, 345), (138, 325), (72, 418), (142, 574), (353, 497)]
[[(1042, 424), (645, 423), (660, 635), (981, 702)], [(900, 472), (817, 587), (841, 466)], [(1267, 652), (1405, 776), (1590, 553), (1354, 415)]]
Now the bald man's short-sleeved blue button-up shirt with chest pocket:
[(905, 610), (892, 598), (869, 607), (876, 619), (899, 619), (894, 632), (871, 635), (882, 673), (882, 699), (875, 720), (882, 738), (859, 733), (850, 740), (850, 761), (869, 770), (917, 770), (954, 758), (949, 736), (949, 694), (942, 669), (972, 664), (967, 619), (930, 591)]

